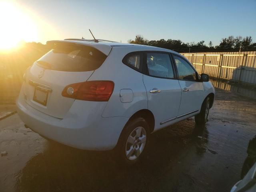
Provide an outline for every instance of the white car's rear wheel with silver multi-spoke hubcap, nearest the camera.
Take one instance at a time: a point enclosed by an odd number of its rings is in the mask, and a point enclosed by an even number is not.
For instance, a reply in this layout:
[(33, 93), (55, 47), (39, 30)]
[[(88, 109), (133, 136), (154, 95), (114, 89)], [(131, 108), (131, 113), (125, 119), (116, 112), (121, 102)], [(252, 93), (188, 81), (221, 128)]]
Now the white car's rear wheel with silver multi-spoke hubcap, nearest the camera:
[(144, 118), (130, 120), (118, 140), (118, 162), (133, 165), (140, 161), (148, 149), (149, 136), (150, 129)]

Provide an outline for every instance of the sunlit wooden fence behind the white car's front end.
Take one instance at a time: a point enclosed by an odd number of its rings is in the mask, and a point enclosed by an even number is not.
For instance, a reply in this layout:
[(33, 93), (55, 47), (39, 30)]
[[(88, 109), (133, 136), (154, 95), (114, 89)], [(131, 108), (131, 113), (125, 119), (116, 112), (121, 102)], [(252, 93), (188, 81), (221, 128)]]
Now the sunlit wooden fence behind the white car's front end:
[(198, 73), (256, 86), (256, 51), (180, 54), (193, 64)]

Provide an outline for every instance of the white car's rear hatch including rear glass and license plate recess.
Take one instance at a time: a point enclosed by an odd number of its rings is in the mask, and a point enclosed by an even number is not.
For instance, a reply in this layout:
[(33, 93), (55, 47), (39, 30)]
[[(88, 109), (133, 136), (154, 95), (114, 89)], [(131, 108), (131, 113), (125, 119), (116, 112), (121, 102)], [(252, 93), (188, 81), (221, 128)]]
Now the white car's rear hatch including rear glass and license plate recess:
[(45, 114), (64, 118), (74, 103), (73, 98), (62, 96), (64, 88), (88, 80), (106, 57), (92, 46), (58, 42), (26, 72), (26, 102)]

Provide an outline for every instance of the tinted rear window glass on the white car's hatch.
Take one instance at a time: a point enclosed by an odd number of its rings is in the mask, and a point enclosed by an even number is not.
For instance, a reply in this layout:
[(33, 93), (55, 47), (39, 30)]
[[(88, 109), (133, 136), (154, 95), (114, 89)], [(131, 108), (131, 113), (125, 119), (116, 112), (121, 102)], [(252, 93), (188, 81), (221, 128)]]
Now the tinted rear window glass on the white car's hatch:
[(42, 56), (37, 65), (58, 71), (92, 71), (107, 58), (99, 50), (88, 46), (59, 44)]

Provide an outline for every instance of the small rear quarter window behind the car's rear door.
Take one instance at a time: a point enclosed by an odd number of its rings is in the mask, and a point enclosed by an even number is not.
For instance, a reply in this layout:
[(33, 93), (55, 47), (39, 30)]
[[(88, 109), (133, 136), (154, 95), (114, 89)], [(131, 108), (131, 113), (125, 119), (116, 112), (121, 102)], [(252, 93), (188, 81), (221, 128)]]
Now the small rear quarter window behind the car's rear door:
[(142, 68), (142, 57), (143, 54), (141, 52), (132, 52), (124, 57), (123, 63), (135, 70), (139, 70)]

